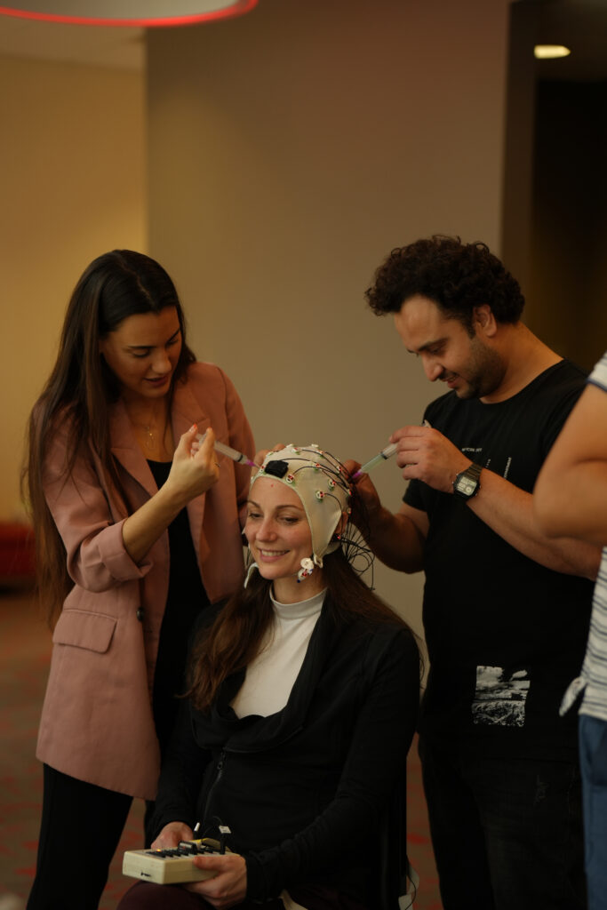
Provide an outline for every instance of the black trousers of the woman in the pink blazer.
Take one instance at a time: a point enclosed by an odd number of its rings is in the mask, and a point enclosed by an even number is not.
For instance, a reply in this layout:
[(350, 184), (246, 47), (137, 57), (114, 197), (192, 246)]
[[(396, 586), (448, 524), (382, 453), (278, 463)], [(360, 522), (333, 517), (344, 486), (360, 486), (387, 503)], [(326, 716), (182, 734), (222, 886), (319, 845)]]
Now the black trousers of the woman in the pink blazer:
[(44, 766), (34, 885), (26, 910), (96, 910), (132, 797)]

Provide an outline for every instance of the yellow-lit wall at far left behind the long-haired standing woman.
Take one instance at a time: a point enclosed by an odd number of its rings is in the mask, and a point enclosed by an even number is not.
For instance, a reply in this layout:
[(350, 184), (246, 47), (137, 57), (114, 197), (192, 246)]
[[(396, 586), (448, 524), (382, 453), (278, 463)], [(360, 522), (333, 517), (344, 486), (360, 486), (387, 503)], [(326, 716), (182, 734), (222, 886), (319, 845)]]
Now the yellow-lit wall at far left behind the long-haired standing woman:
[(76, 279), (146, 245), (144, 114), (141, 74), (0, 56), (0, 521), (20, 514), (25, 420)]

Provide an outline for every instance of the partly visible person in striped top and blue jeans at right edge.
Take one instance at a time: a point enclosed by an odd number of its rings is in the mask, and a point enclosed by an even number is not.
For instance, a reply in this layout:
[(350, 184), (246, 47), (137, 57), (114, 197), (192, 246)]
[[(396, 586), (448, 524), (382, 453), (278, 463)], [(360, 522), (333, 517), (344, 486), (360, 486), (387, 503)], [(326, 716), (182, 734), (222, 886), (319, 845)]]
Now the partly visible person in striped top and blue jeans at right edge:
[(590, 910), (607, 910), (607, 351), (556, 440), (535, 488), (535, 513), (551, 537), (603, 547), (582, 674), (563, 701), (582, 693), (580, 757)]

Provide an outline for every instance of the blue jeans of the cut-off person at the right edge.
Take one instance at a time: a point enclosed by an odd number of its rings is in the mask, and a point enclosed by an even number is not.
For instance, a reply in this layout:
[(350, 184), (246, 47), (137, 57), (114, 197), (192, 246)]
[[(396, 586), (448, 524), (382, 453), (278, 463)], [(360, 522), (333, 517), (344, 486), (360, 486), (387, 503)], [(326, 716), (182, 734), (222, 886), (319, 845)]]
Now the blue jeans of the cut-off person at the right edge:
[(607, 910), (607, 723), (580, 714), (586, 878), (590, 910)]

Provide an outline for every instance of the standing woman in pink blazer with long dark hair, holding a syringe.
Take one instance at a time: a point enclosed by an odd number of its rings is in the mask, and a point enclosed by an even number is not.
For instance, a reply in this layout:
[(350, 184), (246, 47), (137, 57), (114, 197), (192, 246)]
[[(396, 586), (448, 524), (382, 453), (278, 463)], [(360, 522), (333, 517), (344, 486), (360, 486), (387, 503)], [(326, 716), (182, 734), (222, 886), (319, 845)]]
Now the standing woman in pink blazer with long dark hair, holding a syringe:
[(132, 797), (155, 797), (190, 629), (242, 575), (249, 469), (218, 456), (216, 439), (252, 457), (238, 394), (187, 348), (167, 272), (131, 250), (96, 258), (29, 428), (54, 648), (28, 910), (94, 910)]

